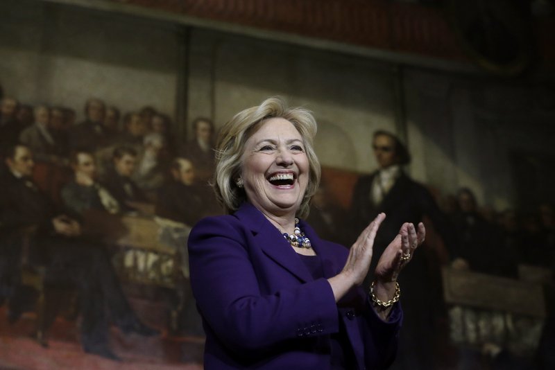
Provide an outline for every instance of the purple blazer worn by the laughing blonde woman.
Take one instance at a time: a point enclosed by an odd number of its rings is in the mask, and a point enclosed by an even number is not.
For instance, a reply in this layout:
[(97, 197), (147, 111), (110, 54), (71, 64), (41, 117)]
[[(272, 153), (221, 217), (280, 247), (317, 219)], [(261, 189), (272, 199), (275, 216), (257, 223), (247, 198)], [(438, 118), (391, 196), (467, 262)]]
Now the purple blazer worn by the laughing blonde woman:
[(340, 328), (359, 369), (391, 364), (399, 303), (388, 322), (377, 317), (361, 288), (336, 303), (326, 279), (341, 271), (348, 249), (321, 240), (302, 221), (300, 227), (323, 262), (323, 279), (313, 279), (251, 204), (200, 220), (191, 231), (189, 267), (206, 333), (205, 369), (330, 369), (329, 341), (322, 339)]

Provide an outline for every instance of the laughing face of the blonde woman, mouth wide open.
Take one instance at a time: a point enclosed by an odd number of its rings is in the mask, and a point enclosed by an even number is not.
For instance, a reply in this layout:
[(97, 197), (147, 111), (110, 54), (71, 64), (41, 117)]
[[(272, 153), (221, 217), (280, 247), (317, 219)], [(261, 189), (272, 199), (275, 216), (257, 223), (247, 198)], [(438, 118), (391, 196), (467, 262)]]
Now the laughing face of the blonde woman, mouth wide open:
[(270, 118), (246, 141), (241, 177), (249, 202), (264, 213), (295, 213), (305, 195), (309, 161), (302, 136), (284, 118)]

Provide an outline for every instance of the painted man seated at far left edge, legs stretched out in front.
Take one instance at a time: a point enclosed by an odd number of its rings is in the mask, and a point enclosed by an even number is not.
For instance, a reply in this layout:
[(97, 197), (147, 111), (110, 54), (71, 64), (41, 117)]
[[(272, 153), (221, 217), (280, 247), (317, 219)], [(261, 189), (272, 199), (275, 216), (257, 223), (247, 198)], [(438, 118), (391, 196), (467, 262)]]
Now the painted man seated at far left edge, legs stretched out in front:
[[(33, 155), (22, 145), (10, 146), (5, 153), (8, 167), (0, 179), (0, 224), (14, 240), (19, 230), (33, 228), (29, 261), (46, 267), (46, 279), (56, 285), (71, 285), (80, 298), (81, 344), (85, 352), (117, 359), (108, 345), (110, 319), (123, 333), (154, 335), (157, 333), (139, 321), (123, 295), (121, 285), (108, 254), (83, 238), (81, 225), (68, 213), (58, 211), (31, 179)], [(17, 289), (14, 294), (17, 297)], [(12, 299), (10, 316), (17, 320), (17, 299)]]

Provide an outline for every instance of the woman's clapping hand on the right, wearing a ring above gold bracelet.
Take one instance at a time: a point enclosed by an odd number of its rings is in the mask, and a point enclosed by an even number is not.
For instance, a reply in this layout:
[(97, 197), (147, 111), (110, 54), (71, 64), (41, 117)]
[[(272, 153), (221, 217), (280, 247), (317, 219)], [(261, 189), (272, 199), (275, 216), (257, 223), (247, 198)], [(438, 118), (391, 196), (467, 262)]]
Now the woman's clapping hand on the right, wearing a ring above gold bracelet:
[(377, 282), (391, 283), (397, 281), (399, 273), (411, 261), (416, 248), (424, 243), (425, 236), (426, 230), (422, 222), (418, 224), (418, 233), (411, 222), (402, 224), (399, 234), (379, 257), (375, 270)]

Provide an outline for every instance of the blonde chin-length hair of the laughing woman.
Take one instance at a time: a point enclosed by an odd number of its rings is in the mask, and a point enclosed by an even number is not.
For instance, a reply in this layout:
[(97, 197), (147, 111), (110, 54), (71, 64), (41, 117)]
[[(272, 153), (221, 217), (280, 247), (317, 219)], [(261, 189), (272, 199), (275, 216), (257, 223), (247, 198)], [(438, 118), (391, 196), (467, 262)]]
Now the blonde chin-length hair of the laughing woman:
[(244, 189), (235, 184), (241, 174), (241, 156), (248, 138), (270, 118), (287, 119), (302, 137), (309, 161), (309, 180), (297, 215), (305, 218), (309, 213), (310, 199), (318, 190), (321, 177), (320, 161), (314, 152), (316, 120), (308, 109), (289, 108), (279, 96), (268, 98), (256, 107), (244, 109), (221, 127), (216, 140), (216, 170), (212, 187), (218, 201), (228, 213), (236, 211), (246, 202)]

